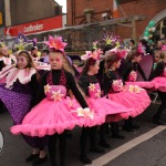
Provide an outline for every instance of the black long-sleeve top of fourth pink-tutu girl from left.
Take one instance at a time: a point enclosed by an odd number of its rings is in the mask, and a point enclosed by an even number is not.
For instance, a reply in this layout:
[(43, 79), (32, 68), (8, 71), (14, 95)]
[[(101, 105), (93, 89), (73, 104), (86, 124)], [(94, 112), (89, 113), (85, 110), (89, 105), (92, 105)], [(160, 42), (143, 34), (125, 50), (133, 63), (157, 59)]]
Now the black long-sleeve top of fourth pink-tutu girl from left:
[(139, 63), (137, 63), (137, 62), (132, 63), (131, 61), (125, 62), (124, 69), (122, 70), (121, 75), (123, 76), (124, 81), (127, 81), (128, 75), (132, 71), (135, 71), (135, 72), (138, 71), (141, 73), (142, 77), (144, 79), (144, 81), (147, 81), (145, 73), (144, 73), (142, 66), (139, 65)]

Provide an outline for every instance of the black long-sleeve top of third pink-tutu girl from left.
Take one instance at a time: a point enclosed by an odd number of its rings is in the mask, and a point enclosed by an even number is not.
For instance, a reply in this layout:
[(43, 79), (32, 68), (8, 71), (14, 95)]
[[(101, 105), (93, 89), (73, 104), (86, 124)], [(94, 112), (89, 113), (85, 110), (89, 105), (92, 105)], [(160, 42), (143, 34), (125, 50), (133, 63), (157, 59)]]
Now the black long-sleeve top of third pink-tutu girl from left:
[[(116, 71), (108, 71), (108, 72), (104, 73), (103, 86), (102, 86), (104, 95), (107, 95), (108, 93), (116, 93), (112, 89), (112, 83), (114, 80), (122, 80), (123, 81), (123, 79), (118, 74), (117, 70)], [(124, 81), (123, 81), (123, 84), (125, 84)]]

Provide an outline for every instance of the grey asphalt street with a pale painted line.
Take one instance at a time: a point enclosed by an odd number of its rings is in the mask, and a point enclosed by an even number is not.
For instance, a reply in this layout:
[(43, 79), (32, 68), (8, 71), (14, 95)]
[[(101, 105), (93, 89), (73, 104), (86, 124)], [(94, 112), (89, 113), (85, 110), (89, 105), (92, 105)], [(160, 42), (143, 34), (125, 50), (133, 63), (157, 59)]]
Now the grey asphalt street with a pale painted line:
[[(125, 135), (125, 139), (111, 138), (107, 135), (107, 142), (111, 148), (105, 154), (89, 153), (89, 157), (93, 159), (91, 166), (165, 166), (166, 163), (166, 126), (157, 126), (151, 123), (153, 114), (156, 112), (158, 104), (151, 106), (135, 122), (141, 125), (139, 129), (127, 133), (121, 131)], [(163, 115), (163, 117), (166, 114)], [(166, 116), (163, 118), (166, 122)], [(122, 125), (122, 122), (120, 123)], [(4, 147), (0, 156), (0, 165), (2, 166), (29, 166), (24, 162), (30, 155), (31, 148), (25, 144), (21, 136), (13, 136), (9, 128), (12, 126), (10, 115), (0, 114), (0, 129), (4, 136)], [(79, 160), (79, 137), (81, 128), (72, 132), (72, 137), (68, 141), (68, 165), (82, 166)], [(98, 136), (97, 136), (98, 138)], [(49, 160), (42, 166), (49, 166)]]

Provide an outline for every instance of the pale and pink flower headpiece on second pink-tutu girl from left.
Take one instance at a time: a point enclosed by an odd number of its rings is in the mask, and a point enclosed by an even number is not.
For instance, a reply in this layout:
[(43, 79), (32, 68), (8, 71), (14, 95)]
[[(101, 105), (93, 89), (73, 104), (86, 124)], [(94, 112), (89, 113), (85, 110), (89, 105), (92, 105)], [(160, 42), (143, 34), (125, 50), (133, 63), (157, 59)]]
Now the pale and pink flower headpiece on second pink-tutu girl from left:
[(85, 51), (86, 54), (82, 55), (81, 59), (82, 60), (87, 60), (90, 58), (94, 59), (94, 60), (98, 60), (100, 55), (103, 53), (103, 51), (101, 49), (95, 50), (95, 51)]

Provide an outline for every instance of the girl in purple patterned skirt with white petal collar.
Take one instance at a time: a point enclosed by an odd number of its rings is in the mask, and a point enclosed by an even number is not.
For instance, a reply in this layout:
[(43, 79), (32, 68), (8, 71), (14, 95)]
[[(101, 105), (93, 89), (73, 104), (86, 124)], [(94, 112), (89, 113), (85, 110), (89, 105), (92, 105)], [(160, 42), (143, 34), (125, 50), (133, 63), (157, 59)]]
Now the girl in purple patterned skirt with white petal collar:
[[(17, 65), (7, 70), (7, 82), (0, 84), (0, 100), (8, 108), (13, 123), (21, 124), (23, 117), (35, 104), (35, 92), (39, 85), (37, 71), (28, 51), (19, 52)], [(44, 162), (46, 139), (25, 135), (23, 138), (33, 147), (32, 154), (25, 160), (31, 162), (38, 158), (38, 162)]]

